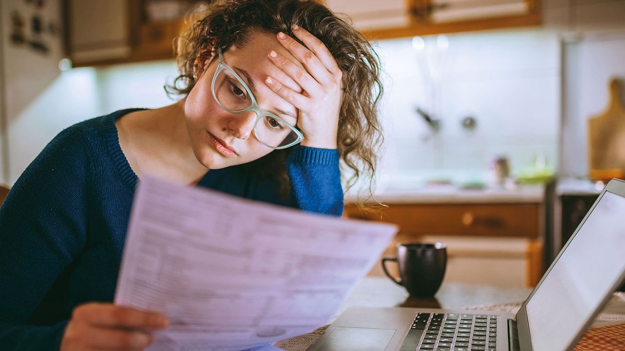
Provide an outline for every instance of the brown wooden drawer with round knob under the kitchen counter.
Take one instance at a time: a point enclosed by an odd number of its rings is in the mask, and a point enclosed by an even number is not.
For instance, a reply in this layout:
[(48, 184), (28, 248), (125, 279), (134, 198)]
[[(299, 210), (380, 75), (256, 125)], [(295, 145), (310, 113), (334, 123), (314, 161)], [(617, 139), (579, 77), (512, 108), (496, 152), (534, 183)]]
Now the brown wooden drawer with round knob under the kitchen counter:
[(382, 220), (416, 235), (539, 237), (540, 204), (390, 204), (362, 211), (345, 206), (347, 217)]

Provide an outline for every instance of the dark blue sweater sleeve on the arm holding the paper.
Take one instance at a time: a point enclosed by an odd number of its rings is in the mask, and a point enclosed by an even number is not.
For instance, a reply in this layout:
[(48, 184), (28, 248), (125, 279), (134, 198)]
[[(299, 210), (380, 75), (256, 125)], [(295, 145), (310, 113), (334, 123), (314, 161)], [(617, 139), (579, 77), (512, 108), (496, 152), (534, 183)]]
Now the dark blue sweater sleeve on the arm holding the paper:
[(63, 309), (60, 297), (45, 298), (86, 243), (86, 182), (93, 174), (87, 151), (83, 132), (65, 129), (32, 161), (0, 207), (3, 350), (59, 349), (66, 317), (42, 322), (41, 315)]

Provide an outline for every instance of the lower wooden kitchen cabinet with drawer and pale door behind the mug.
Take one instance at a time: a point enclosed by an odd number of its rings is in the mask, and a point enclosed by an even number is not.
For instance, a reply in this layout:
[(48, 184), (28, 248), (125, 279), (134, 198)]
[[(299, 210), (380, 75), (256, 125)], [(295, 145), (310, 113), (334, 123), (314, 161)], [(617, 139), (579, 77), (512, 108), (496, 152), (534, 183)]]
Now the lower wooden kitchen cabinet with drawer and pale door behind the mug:
[[(347, 204), (345, 216), (399, 225), (384, 255), (400, 242), (447, 244), (446, 280), (492, 285), (534, 286), (544, 272), (541, 203), (387, 204), (361, 210)], [(371, 275), (383, 275), (376, 265)]]

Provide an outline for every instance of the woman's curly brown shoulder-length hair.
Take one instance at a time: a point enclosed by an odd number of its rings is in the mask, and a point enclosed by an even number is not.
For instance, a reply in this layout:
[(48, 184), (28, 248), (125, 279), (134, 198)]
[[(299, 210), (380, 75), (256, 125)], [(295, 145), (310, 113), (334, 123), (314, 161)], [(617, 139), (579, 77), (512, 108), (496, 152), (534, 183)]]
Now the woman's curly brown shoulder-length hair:
[[(371, 44), (351, 22), (312, 0), (216, 1), (201, 16), (191, 18), (192, 23), (174, 41), (180, 75), (166, 86), (168, 94), (189, 94), (196, 84), (197, 59), (204, 62), (214, 58), (217, 47), (222, 52), (233, 45), (243, 47), (255, 31), (293, 36), (291, 26), (297, 24), (326, 44), (342, 71), (344, 97), (337, 147), (342, 168), (348, 167), (346, 171), (351, 173), (344, 180), (349, 189), (361, 175), (367, 175), (372, 193), (377, 154), (383, 141), (377, 114), (383, 91), (380, 62)], [(247, 164), (249, 172), (277, 179), (280, 193), (288, 194), (290, 183), (284, 163), (289, 152), (274, 150)]]

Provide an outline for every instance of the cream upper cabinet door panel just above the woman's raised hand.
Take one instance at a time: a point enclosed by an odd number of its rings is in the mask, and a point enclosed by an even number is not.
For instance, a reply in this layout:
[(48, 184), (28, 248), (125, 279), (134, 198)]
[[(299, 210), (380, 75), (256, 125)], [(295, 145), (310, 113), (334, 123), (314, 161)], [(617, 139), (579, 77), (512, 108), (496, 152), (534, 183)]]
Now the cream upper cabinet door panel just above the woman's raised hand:
[(351, 17), (358, 29), (408, 27), (409, 0), (326, 0), (328, 7)]

